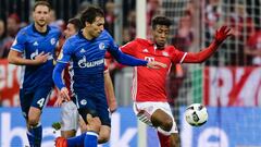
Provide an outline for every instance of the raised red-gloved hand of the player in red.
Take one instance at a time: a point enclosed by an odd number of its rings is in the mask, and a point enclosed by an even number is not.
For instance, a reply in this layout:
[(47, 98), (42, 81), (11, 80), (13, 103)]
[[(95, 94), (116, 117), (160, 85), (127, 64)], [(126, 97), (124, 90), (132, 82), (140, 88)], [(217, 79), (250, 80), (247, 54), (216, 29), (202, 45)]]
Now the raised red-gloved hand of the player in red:
[(215, 42), (222, 44), (228, 36), (232, 36), (232, 30), (227, 26), (222, 26), (215, 30)]

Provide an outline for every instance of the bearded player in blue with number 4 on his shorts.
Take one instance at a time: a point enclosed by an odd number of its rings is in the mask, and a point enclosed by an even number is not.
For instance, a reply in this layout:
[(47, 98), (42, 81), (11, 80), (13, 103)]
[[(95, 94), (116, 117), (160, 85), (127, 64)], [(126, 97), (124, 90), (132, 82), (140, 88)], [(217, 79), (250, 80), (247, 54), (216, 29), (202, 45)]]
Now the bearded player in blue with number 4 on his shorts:
[(20, 101), (32, 147), (41, 145), (40, 115), (53, 87), (53, 56), (61, 35), (59, 29), (48, 26), (49, 12), (47, 1), (35, 3), (35, 22), (18, 32), (8, 57), (10, 63), (23, 65)]

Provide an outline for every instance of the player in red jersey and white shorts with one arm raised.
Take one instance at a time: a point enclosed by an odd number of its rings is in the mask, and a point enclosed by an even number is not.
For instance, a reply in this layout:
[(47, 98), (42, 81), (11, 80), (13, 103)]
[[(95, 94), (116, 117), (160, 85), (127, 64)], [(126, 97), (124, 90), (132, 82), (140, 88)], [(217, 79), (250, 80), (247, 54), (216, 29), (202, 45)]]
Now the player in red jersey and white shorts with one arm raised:
[(179, 137), (174, 117), (167, 103), (165, 81), (170, 68), (175, 63), (202, 63), (229, 36), (231, 29), (222, 26), (215, 33), (212, 44), (196, 53), (182, 52), (174, 46), (166, 46), (171, 21), (165, 16), (152, 20), (152, 40), (137, 38), (121, 48), (124, 53), (148, 61), (159, 61), (166, 69), (152, 70), (134, 68), (134, 111), (137, 118), (158, 130), (161, 147), (179, 147)]

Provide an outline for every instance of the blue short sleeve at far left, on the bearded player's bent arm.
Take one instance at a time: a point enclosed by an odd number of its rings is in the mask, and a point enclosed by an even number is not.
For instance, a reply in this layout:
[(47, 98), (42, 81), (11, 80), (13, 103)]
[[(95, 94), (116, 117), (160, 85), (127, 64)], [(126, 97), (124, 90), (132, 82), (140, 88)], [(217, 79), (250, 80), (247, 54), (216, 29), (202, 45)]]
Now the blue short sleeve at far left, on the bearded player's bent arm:
[(18, 51), (18, 52), (24, 52), (25, 42), (26, 42), (26, 33), (24, 30), (21, 30), (16, 35), (16, 37), (11, 46), (11, 49)]

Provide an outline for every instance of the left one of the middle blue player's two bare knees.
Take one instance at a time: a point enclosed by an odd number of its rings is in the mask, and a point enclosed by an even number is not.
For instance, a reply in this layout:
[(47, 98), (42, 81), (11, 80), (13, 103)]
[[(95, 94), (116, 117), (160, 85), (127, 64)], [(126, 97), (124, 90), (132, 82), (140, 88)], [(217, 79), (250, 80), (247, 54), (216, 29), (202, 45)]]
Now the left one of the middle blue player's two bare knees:
[(91, 114), (87, 114), (87, 131), (100, 132), (101, 121), (98, 117), (92, 118)]

